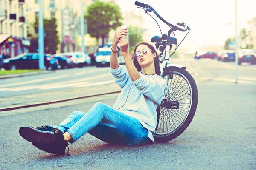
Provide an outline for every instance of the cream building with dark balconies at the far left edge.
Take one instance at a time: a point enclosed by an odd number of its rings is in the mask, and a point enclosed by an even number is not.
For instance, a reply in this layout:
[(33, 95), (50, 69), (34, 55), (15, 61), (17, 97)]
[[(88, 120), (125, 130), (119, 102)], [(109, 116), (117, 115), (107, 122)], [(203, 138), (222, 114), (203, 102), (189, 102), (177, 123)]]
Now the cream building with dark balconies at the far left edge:
[(15, 57), (28, 51), (25, 0), (0, 0), (0, 55)]

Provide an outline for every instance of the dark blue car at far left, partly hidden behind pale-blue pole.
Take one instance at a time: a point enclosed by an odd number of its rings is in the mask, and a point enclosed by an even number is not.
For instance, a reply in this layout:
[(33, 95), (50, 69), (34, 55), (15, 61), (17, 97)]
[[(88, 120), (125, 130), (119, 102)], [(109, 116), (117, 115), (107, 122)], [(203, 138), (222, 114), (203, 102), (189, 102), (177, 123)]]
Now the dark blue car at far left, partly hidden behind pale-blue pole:
[[(14, 58), (4, 59), (2, 67), (5, 70), (39, 69), (39, 54), (23, 53)], [(44, 54), (44, 67), (52, 70), (60, 68), (60, 65), (50, 54)]]

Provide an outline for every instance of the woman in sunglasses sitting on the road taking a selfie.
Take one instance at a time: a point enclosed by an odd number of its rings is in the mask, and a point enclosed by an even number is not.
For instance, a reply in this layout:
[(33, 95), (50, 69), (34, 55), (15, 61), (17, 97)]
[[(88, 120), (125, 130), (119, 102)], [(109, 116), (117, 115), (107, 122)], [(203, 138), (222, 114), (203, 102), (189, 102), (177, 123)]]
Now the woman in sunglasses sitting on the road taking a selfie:
[[(156, 108), (163, 99), (166, 82), (160, 77), (159, 58), (152, 45), (139, 43), (132, 61), (127, 33), (127, 28), (117, 30), (112, 45), (110, 72), (122, 88), (113, 108), (96, 103), (87, 113), (74, 111), (53, 127), (20, 127), (20, 136), (57, 155), (65, 154), (67, 142), (76, 142), (87, 132), (109, 144), (138, 146), (154, 142)], [(118, 64), (118, 43), (126, 68)]]

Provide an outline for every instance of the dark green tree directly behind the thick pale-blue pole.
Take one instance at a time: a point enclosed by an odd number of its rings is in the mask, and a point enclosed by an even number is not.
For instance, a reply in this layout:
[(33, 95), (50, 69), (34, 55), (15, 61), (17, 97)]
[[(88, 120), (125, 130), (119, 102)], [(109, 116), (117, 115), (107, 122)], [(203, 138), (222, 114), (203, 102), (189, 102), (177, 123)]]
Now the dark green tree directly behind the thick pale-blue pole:
[[(34, 23), (35, 33), (38, 33), (38, 18)], [(58, 44), (60, 43), (56, 18), (44, 19), (44, 52), (49, 54), (56, 54)]]

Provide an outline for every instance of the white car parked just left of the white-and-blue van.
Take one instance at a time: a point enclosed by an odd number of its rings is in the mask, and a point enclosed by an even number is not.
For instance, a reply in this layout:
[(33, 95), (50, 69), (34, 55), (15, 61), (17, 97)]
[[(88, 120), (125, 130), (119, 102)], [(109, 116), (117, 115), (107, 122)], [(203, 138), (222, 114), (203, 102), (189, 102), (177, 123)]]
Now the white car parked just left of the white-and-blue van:
[(68, 53), (58, 53), (55, 56), (71, 56), (71, 59), (75, 65), (78, 67), (84, 67), (91, 64), (91, 58), (88, 54), (84, 54), (82, 51), (78, 52), (68, 52)]

